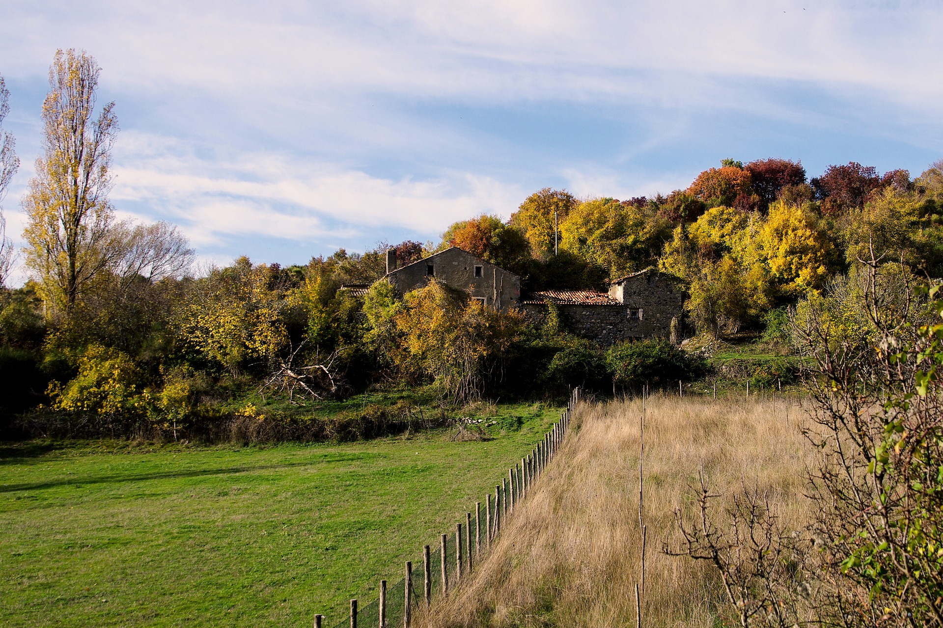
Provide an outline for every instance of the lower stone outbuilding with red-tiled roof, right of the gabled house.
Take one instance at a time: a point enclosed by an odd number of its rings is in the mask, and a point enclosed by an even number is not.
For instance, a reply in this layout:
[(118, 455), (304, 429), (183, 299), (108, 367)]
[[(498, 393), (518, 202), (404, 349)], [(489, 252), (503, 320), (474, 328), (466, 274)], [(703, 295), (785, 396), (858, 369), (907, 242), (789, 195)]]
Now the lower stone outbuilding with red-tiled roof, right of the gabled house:
[(583, 338), (611, 345), (620, 340), (670, 339), (671, 321), (681, 321), (685, 294), (677, 279), (653, 268), (613, 281), (608, 292), (542, 290), (526, 295), (521, 307), (542, 321), (547, 303), (560, 308), (564, 322)]

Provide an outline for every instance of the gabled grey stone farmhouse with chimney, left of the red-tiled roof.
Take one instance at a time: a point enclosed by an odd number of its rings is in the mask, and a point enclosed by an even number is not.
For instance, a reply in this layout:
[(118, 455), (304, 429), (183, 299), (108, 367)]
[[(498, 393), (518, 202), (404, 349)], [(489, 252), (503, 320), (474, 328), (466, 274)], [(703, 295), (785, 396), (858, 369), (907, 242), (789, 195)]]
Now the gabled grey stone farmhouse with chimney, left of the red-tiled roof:
[(401, 268), (397, 268), (395, 251), (387, 251), (386, 279), (401, 298), (406, 292), (424, 288), (433, 277), (451, 288), (465, 290), (472, 299), (497, 309), (517, 307), (521, 300), (520, 276), (457, 246)]

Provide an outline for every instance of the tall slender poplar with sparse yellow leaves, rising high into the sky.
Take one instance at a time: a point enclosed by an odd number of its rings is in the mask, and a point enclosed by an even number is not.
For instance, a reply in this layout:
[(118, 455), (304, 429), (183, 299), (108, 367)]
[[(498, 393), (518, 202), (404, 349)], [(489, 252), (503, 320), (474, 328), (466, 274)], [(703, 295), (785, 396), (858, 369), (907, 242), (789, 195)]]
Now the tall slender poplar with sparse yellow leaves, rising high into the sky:
[(42, 104), (43, 157), (23, 201), (26, 265), (51, 313), (69, 313), (93, 280), (123, 255), (111, 228), (114, 103), (94, 118), (101, 70), (85, 52), (56, 53)]

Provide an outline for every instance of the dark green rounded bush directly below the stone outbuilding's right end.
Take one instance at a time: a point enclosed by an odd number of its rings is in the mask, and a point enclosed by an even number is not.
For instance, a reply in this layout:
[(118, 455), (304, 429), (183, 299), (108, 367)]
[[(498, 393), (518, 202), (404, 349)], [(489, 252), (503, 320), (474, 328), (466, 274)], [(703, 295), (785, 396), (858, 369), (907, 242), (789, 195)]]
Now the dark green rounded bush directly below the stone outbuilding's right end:
[(692, 357), (665, 339), (624, 341), (606, 352), (609, 372), (620, 386), (661, 387), (703, 374), (703, 358)]

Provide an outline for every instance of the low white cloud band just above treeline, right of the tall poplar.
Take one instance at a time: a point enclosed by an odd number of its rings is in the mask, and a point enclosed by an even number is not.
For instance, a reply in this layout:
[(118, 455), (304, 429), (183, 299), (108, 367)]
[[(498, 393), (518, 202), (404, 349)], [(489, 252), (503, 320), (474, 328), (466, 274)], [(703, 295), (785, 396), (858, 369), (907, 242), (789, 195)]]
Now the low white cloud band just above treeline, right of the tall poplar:
[(470, 174), (390, 180), (279, 154), (205, 159), (180, 141), (128, 135), (112, 200), (181, 224), (197, 245), (225, 236), (342, 240), (390, 226), (432, 236), (477, 213), (506, 217), (521, 199), (514, 186)]

